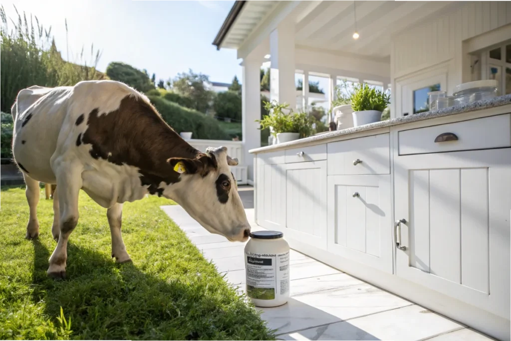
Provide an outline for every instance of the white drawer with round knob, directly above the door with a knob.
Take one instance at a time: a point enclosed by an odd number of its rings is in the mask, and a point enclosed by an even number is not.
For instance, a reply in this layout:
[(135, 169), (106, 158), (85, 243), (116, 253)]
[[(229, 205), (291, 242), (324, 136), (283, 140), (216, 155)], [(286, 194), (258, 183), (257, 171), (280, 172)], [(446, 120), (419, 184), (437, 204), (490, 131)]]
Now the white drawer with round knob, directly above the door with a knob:
[(329, 143), (328, 175), (390, 174), (389, 135)]

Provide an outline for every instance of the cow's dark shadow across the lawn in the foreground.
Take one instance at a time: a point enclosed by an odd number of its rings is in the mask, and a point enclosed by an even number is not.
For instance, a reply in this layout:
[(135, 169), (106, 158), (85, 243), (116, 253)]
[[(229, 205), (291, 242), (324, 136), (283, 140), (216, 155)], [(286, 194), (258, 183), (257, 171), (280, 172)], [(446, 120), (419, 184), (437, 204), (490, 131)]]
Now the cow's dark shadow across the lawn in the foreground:
[(71, 316), (73, 337), (273, 339), (254, 310), (235, 295), (219, 293), (218, 285), (208, 290), (207, 280), (169, 281), (69, 243), (68, 279), (55, 281), (46, 275), (52, 251), (37, 239), (32, 242), (33, 300), (43, 302), (51, 318), (59, 316), (62, 307), (65, 318)]

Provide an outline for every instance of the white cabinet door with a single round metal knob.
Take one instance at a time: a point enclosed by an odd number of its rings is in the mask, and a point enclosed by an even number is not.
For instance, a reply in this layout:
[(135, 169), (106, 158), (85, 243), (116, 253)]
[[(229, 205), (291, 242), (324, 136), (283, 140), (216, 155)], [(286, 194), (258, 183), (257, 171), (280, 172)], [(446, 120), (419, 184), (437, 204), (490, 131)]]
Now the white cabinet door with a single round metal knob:
[(390, 175), (328, 177), (328, 250), (392, 273)]

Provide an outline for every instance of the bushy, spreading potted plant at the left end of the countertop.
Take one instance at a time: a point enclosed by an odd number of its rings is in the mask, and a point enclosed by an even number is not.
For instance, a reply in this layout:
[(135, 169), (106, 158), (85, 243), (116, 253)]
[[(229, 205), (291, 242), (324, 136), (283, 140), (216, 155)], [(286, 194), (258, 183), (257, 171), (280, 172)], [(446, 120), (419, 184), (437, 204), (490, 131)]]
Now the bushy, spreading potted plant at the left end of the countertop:
[(269, 115), (255, 121), (261, 125), (260, 130), (270, 128), (277, 143), (297, 140), (311, 134), (312, 120), (307, 113), (293, 112), (286, 103), (264, 102), (264, 105)]

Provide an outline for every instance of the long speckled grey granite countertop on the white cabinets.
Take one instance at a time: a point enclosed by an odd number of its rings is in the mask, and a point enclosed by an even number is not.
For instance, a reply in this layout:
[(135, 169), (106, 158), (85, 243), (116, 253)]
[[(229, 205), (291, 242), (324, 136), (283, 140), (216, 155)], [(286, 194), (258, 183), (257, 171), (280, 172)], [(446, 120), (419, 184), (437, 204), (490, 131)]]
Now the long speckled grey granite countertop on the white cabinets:
[(408, 116), (397, 117), (397, 118), (393, 118), (393, 119), (387, 119), (384, 121), (379, 121), (379, 122), (371, 123), (371, 124), (360, 126), (360, 127), (336, 130), (336, 131), (332, 131), (332, 132), (328, 132), (328, 133), (324, 133), (324, 134), (320, 134), (320, 135), (314, 135), (314, 136), (310, 136), (307, 138), (302, 138), (302, 139), (291, 141), (291, 142), (268, 145), (267, 147), (251, 149), (249, 151), (249, 153), (262, 153), (262, 152), (272, 151), (272, 150), (276, 150), (276, 149), (284, 149), (284, 148), (288, 148), (288, 147), (293, 147), (295, 145), (300, 145), (303, 143), (321, 141), (324, 139), (330, 139), (333, 137), (343, 136), (343, 135), (350, 135), (350, 134), (358, 133), (361, 131), (374, 130), (374, 129), (380, 129), (380, 128), (385, 128), (385, 127), (392, 127), (392, 126), (402, 125), (402, 124), (406, 124), (406, 123), (410, 123), (410, 122), (422, 121), (425, 119), (431, 119), (431, 118), (436, 118), (436, 117), (461, 114), (461, 113), (465, 113), (465, 112), (495, 108), (495, 107), (500, 107), (500, 106), (508, 105), (508, 104), (511, 104), (511, 94), (498, 96), (491, 100), (477, 101), (477, 102), (466, 104), (466, 105), (449, 107), (449, 108), (432, 110), (432, 111), (426, 111), (426, 112), (421, 112), (421, 113), (415, 114), (415, 115), (408, 115)]

